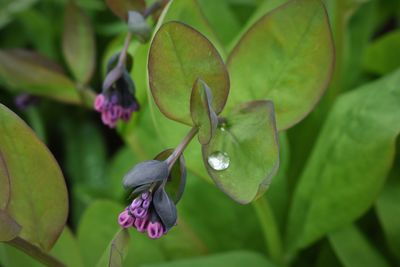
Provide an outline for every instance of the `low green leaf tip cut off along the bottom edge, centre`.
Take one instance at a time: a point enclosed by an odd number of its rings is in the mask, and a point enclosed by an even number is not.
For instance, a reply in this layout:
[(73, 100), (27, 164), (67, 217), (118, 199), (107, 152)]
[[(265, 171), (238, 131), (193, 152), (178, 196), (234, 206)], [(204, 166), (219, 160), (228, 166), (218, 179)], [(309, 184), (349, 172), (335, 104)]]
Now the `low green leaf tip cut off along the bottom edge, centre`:
[(261, 254), (250, 251), (232, 251), (221, 254), (214, 254), (196, 259), (186, 259), (180, 261), (173, 261), (170, 263), (149, 264), (146, 267), (241, 267), (241, 266), (254, 266), (254, 267), (273, 267)]

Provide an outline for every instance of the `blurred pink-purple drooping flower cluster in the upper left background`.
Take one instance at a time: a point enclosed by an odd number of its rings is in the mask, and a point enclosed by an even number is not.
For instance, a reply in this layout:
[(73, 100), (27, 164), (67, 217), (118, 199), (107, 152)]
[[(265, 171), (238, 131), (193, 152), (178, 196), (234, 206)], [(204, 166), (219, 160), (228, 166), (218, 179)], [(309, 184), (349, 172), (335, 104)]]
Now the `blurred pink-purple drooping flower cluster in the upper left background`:
[(126, 70), (118, 75), (118, 72), (109, 72), (103, 92), (97, 95), (94, 102), (95, 110), (101, 113), (101, 120), (110, 128), (114, 128), (118, 120), (129, 121), (132, 113), (139, 110), (132, 78)]

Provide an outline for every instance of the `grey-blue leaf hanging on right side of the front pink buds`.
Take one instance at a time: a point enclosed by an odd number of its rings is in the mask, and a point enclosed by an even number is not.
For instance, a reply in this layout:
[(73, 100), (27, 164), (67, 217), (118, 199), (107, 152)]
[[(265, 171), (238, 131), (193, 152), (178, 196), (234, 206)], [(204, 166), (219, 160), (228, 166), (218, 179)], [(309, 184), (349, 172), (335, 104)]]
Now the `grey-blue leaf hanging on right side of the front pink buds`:
[(153, 205), (165, 229), (168, 231), (176, 224), (177, 211), (174, 202), (169, 198), (163, 186), (159, 186), (153, 194)]

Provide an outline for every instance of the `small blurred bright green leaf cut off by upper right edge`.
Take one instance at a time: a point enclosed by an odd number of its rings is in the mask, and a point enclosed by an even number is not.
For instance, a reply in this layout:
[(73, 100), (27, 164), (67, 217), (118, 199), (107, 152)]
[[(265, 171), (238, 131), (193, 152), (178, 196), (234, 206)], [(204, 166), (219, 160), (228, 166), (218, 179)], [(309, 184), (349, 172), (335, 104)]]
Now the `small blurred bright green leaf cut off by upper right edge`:
[(400, 66), (400, 30), (392, 31), (372, 42), (364, 54), (363, 66), (368, 72), (387, 74)]

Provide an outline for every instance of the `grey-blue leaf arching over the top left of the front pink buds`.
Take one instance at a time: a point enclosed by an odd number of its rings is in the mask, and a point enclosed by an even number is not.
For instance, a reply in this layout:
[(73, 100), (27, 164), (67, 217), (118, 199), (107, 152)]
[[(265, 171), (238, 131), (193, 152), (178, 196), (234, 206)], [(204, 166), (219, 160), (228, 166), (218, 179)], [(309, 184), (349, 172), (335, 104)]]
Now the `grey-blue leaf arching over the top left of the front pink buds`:
[(133, 167), (124, 177), (125, 188), (161, 181), (168, 177), (168, 165), (165, 161), (149, 160)]

